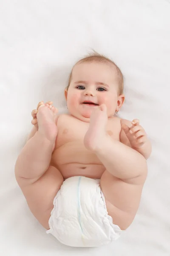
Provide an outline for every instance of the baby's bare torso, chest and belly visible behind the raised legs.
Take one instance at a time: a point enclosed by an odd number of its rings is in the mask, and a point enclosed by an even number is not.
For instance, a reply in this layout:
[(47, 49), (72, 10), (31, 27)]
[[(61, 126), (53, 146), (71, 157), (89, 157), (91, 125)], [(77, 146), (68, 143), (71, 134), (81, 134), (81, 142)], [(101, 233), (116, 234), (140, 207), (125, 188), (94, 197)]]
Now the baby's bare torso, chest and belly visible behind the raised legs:
[[(114, 120), (113, 120), (114, 121)], [(120, 121), (108, 121), (106, 132), (115, 140), (119, 140)], [(96, 154), (85, 148), (84, 137), (90, 123), (82, 122), (72, 116), (61, 116), (58, 119), (58, 134), (54, 152), (51, 157), (51, 165), (62, 173), (63, 177), (83, 175), (87, 177), (101, 177), (104, 167)], [(96, 175), (95, 175), (96, 172)]]

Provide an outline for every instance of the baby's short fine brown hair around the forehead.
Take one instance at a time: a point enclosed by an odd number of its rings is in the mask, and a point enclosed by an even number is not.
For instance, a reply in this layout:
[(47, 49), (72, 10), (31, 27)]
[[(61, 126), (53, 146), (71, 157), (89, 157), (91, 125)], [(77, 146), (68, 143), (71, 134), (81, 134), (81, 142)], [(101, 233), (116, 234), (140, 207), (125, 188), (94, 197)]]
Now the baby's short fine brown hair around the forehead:
[[(119, 92), (118, 92), (118, 94), (119, 95), (123, 94), (123, 87), (124, 87), (124, 85), (123, 85), (124, 84), (123, 83), (123, 74), (122, 74), (121, 70), (119, 69), (119, 67), (114, 63), (114, 61), (112, 61), (111, 59), (109, 59), (105, 55), (99, 54), (98, 52), (93, 50), (93, 52), (89, 53), (84, 58), (77, 61), (76, 64), (84, 63), (84, 62), (93, 62), (93, 61), (102, 62), (102, 63), (111, 63), (116, 67), (118, 81), (119, 81)], [(73, 66), (73, 68), (74, 68), (74, 66)], [(73, 68), (72, 68), (71, 73), (70, 73), (69, 78), (68, 78), (68, 86), (66, 87), (67, 90), (68, 90), (68, 87), (70, 86), (70, 83), (71, 83)]]

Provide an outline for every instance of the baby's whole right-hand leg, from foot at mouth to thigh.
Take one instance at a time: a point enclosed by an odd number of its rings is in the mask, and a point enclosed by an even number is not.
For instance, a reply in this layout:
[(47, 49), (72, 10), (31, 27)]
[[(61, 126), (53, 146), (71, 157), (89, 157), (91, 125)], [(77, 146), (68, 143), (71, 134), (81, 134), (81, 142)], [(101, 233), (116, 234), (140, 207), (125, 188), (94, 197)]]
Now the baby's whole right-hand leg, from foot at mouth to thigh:
[(97, 110), (91, 116), (85, 146), (103, 163), (100, 185), (113, 223), (126, 229), (136, 215), (147, 176), (147, 164), (139, 152), (105, 133), (107, 116)]

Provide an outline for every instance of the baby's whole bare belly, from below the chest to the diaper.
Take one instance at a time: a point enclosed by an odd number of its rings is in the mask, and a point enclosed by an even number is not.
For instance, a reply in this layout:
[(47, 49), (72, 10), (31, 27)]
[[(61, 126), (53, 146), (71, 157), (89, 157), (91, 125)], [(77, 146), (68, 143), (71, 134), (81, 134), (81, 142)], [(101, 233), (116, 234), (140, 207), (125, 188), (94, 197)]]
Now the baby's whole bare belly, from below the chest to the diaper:
[(105, 167), (96, 154), (88, 151), (83, 142), (71, 142), (57, 148), (52, 154), (51, 165), (67, 179), (72, 176), (85, 176), (100, 179)]

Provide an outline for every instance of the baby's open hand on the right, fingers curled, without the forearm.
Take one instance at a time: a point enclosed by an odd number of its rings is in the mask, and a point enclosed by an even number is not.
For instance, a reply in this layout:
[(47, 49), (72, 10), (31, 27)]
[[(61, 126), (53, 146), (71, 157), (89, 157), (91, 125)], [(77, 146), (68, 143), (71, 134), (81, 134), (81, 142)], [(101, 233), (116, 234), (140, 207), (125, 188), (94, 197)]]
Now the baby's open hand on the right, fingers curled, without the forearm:
[(131, 127), (128, 127), (122, 120), (120, 123), (132, 148), (141, 148), (147, 142), (147, 134), (144, 128), (139, 125), (139, 119), (133, 119)]

